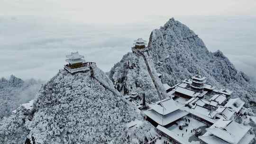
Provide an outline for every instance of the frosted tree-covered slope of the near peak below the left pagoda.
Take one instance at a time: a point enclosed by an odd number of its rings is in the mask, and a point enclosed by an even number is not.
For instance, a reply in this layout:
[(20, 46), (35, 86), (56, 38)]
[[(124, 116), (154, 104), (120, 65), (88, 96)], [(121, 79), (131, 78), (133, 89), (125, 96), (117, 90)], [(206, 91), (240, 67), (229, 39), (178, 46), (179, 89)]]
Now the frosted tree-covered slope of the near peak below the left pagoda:
[[(140, 133), (127, 137), (127, 124), (135, 119), (143, 121), (143, 117), (114, 89), (104, 72), (97, 67), (93, 70), (94, 77), (90, 72), (72, 75), (60, 70), (39, 90), (28, 116), (31, 121), (27, 118), (19, 126), (28, 131), (31, 143), (129, 144), (134, 139), (143, 140), (141, 135), (151, 126), (144, 121), (135, 130)], [(0, 133), (0, 137), (9, 139), (12, 135)]]

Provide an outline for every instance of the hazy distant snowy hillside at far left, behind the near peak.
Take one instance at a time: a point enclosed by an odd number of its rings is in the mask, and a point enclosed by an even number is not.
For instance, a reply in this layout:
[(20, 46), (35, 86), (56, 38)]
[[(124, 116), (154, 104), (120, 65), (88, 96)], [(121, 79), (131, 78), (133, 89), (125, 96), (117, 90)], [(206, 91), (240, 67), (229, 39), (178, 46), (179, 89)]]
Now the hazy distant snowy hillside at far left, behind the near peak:
[(9, 116), (11, 111), (24, 102), (34, 99), (42, 81), (23, 81), (13, 75), (9, 80), (0, 79), (0, 119)]

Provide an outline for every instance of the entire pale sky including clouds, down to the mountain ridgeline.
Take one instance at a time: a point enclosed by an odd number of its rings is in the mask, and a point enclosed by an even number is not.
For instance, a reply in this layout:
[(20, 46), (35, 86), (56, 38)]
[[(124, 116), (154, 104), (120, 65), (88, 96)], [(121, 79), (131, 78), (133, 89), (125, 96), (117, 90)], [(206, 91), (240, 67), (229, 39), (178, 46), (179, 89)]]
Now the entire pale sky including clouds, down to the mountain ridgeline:
[(48, 80), (71, 51), (107, 72), (172, 17), (256, 80), (256, 0), (0, 0), (0, 77)]

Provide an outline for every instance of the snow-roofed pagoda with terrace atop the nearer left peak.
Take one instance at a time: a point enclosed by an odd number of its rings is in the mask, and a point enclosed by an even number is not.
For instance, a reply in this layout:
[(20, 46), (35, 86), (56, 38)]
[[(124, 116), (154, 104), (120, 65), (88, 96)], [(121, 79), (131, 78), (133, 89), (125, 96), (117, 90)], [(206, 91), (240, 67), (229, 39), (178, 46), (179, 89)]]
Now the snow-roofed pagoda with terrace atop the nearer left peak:
[(64, 66), (64, 69), (72, 74), (75, 72), (89, 71), (90, 66), (96, 65), (96, 63), (93, 62), (85, 62), (84, 56), (80, 55), (78, 52), (66, 55), (66, 58), (66, 62), (68, 62), (68, 64)]

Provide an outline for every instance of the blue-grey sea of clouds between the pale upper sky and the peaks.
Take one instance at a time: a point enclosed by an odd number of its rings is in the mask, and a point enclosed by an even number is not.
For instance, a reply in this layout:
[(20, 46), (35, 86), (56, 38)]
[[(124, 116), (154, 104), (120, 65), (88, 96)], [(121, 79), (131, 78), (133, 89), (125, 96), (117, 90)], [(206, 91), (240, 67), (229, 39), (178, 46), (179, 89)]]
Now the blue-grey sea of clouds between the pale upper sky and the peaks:
[[(65, 55), (79, 51), (108, 72), (130, 51), (133, 40), (170, 17), (145, 17), (138, 23), (90, 24), (39, 16), (0, 17), (0, 77), (48, 80), (63, 68)], [(235, 66), (256, 80), (256, 18), (177, 16), (195, 31), (212, 52), (221, 50)]]

